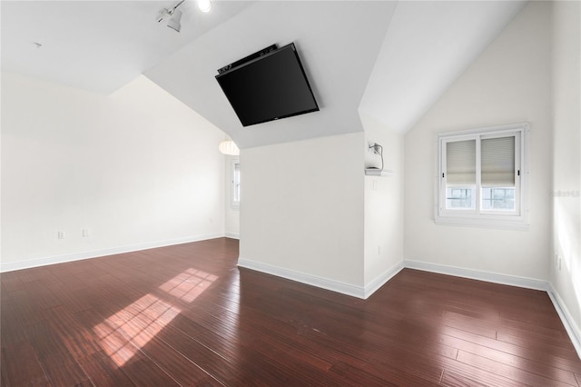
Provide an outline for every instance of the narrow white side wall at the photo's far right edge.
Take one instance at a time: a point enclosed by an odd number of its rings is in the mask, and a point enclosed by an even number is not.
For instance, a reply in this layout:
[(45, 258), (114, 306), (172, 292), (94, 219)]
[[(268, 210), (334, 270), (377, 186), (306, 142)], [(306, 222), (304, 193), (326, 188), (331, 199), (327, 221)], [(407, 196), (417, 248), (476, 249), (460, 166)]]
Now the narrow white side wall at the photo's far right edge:
[[(581, 5), (553, 2), (553, 255), (550, 281), (581, 343)], [(561, 260), (559, 268), (559, 259)], [(579, 348), (581, 351), (581, 348)], [(581, 352), (580, 352), (581, 353)]]

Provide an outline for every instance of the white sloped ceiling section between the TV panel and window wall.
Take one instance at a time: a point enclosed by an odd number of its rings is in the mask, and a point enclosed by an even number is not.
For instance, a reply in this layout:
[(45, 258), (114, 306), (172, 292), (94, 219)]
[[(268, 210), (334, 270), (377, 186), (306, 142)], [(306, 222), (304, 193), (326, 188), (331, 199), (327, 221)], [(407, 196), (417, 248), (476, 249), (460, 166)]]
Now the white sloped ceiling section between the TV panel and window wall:
[(359, 111), (407, 132), (526, 4), (399, 2)]

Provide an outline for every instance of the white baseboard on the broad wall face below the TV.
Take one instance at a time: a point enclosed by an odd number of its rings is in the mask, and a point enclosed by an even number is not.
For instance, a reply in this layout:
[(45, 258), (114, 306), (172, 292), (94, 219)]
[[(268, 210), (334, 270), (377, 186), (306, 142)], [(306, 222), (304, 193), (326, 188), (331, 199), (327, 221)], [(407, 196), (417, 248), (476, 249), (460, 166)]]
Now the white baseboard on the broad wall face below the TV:
[(285, 269), (280, 266), (251, 261), (245, 258), (238, 258), (238, 266), (245, 269), (251, 269), (256, 272), (276, 275), (277, 277), (286, 278), (287, 280), (296, 281), (298, 283), (306, 283), (308, 285), (317, 286), (332, 292), (347, 294), (358, 298), (365, 298), (365, 289), (362, 286), (352, 285), (350, 283), (341, 283), (339, 281), (330, 280), (329, 278), (296, 272), (294, 270)]

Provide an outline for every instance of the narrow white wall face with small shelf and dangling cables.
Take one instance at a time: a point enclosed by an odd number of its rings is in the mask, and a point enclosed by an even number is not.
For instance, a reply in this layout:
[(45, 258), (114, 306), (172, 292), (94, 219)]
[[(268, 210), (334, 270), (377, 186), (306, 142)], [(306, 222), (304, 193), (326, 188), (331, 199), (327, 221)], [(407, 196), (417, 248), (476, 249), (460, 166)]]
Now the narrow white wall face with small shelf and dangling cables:
[(365, 128), (366, 166), (380, 167), (377, 154), (368, 151), (368, 142), (383, 147), (383, 169), (388, 176), (365, 177), (365, 285), (399, 270), (403, 263), (403, 149), (404, 136), (360, 114)]

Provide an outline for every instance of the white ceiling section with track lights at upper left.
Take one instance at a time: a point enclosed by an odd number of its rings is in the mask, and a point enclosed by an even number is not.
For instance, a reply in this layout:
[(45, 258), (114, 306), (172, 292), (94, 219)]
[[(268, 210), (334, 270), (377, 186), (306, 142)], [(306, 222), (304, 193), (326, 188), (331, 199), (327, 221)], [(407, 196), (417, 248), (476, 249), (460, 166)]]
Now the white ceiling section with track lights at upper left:
[(2, 70), (110, 94), (251, 4), (215, 2), (204, 14), (186, 1), (178, 34), (157, 23), (176, 3), (2, 0)]

